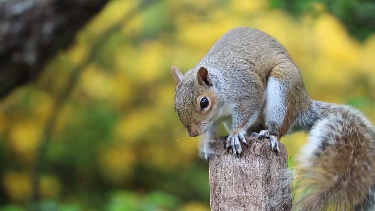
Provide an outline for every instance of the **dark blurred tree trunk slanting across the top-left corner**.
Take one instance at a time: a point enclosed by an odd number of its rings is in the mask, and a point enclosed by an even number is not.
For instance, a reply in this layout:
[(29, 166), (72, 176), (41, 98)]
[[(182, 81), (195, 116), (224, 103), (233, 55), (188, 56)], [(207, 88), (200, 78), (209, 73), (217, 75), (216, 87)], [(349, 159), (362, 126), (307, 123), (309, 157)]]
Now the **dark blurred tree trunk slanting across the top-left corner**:
[(0, 0), (0, 98), (37, 78), (45, 63), (108, 0)]

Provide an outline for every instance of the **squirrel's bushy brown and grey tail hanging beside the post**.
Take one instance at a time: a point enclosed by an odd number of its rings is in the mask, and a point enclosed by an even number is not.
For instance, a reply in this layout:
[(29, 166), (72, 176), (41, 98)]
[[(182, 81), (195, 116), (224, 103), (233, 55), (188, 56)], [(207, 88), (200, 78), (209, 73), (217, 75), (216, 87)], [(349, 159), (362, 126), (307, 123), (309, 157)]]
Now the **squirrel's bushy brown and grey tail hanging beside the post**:
[(310, 134), (293, 169), (293, 210), (375, 210), (373, 128), (360, 119), (331, 116)]

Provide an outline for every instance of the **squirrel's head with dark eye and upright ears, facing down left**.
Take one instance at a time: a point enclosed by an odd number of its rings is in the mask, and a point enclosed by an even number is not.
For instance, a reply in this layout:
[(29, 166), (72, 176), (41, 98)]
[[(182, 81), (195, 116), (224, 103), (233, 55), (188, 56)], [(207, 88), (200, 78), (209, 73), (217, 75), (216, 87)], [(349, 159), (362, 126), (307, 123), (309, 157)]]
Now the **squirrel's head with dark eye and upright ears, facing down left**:
[(171, 72), (177, 84), (174, 110), (186, 133), (191, 137), (200, 136), (210, 128), (219, 110), (215, 84), (205, 67), (182, 75), (176, 66), (172, 66)]

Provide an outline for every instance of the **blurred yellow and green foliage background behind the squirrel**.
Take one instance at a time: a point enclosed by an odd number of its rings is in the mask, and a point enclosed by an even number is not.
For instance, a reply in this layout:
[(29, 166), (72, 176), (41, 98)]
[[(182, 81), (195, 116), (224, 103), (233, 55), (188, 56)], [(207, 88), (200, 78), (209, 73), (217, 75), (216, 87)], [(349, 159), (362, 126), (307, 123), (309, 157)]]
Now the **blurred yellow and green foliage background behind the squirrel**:
[[(281, 42), (313, 99), (374, 122), (372, 1), (110, 0), (1, 98), (0, 210), (209, 210), (208, 163), (181, 130), (170, 68), (186, 72), (239, 26)], [(281, 142), (294, 156), (305, 139)]]

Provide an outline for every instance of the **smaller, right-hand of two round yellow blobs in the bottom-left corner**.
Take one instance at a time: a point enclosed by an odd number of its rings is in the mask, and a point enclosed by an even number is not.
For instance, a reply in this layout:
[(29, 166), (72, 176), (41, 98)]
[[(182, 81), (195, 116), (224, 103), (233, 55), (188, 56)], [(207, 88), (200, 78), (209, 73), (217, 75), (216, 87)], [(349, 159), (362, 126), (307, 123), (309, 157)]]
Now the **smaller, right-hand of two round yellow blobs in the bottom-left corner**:
[(55, 197), (60, 193), (61, 184), (54, 175), (45, 175), (39, 181), (39, 193), (43, 198)]

